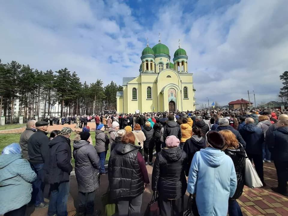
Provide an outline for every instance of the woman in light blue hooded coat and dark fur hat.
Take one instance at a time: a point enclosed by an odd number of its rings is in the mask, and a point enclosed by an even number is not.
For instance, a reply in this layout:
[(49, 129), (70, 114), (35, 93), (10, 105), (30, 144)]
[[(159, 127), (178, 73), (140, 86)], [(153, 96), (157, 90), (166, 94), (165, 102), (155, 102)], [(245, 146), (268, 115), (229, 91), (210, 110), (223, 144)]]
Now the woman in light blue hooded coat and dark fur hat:
[(226, 216), (228, 200), (235, 193), (237, 178), (232, 159), (221, 151), (224, 138), (216, 131), (206, 134), (208, 147), (196, 152), (189, 170), (187, 191), (196, 193), (201, 216)]

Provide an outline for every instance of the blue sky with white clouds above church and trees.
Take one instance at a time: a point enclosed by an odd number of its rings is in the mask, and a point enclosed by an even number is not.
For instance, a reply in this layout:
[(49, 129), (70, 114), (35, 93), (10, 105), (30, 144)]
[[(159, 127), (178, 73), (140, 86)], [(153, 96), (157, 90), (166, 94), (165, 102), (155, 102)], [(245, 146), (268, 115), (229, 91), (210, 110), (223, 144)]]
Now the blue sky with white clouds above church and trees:
[(38, 70), (67, 67), (81, 81), (137, 76), (146, 38), (161, 41), (171, 60), (181, 46), (193, 73), (196, 101), (225, 105), (276, 100), (288, 70), (285, 0), (2, 1), (0, 58)]

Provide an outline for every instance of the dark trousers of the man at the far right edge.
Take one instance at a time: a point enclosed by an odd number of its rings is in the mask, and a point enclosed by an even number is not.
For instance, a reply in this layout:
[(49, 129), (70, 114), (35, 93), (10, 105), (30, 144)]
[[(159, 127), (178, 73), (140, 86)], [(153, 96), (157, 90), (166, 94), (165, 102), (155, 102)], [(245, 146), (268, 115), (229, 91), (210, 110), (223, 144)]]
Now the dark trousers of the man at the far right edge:
[(278, 189), (283, 193), (287, 193), (288, 161), (274, 160), (274, 165), (277, 172)]

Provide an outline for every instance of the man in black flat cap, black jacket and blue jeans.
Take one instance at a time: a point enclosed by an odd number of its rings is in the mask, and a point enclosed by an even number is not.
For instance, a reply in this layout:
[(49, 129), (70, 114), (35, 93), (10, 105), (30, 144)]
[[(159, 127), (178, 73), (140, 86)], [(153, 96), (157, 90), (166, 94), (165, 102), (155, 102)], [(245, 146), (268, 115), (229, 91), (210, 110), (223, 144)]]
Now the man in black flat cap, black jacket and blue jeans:
[(35, 208), (46, 208), (48, 205), (44, 202), (44, 175), (43, 166), (47, 159), (49, 138), (46, 131), (48, 122), (38, 121), (35, 123), (37, 131), (28, 140), (29, 163), (37, 174), (37, 179), (32, 183), (32, 202)]

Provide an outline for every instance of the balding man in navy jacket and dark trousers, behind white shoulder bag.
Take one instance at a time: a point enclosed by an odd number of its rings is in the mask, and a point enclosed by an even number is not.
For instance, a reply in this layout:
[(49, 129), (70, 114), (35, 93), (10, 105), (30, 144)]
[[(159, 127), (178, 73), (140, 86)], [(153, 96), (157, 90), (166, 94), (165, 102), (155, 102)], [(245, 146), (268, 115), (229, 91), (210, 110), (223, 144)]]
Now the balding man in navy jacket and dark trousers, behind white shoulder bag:
[(254, 162), (255, 170), (261, 179), (263, 187), (266, 185), (264, 182), (263, 174), (263, 159), (262, 159), (262, 144), (264, 143), (264, 133), (261, 128), (254, 125), (254, 119), (246, 118), (245, 125), (240, 129), (240, 134), (246, 142), (246, 153), (250, 161)]

